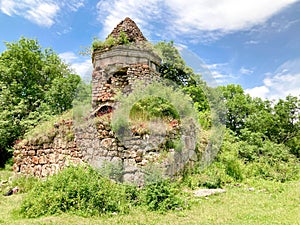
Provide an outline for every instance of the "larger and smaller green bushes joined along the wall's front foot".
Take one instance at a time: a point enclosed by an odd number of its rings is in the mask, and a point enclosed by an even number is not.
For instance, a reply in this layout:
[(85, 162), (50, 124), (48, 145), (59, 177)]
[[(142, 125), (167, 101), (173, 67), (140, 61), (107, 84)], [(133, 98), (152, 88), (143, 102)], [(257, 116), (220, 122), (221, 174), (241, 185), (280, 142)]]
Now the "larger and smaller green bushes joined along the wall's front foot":
[(169, 181), (138, 190), (115, 183), (90, 166), (71, 166), (46, 181), (37, 181), (25, 196), (20, 213), (27, 218), (65, 212), (99, 216), (128, 213), (136, 205), (160, 212), (184, 207), (179, 189)]

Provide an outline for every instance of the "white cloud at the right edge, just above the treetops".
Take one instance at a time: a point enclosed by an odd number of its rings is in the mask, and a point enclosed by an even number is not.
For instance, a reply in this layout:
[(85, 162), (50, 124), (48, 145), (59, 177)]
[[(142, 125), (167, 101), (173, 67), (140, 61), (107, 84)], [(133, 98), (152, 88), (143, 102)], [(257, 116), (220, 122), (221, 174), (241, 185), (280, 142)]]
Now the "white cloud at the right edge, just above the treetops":
[(263, 85), (246, 89), (253, 97), (268, 99), (285, 98), (287, 95), (300, 95), (300, 58), (283, 63), (273, 75), (268, 73)]

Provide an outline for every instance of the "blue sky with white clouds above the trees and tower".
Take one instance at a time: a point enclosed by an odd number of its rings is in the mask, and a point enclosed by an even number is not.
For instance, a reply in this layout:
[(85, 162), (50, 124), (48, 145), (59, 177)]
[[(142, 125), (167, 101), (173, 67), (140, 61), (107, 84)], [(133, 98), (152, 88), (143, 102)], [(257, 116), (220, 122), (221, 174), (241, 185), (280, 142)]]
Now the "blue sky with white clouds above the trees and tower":
[(149, 41), (173, 40), (211, 85), (241, 84), (269, 99), (300, 95), (297, 0), (0, 0), (0, 52), (3, 41), (35, 38), (91, 77), (81, 47), (127, 16)]

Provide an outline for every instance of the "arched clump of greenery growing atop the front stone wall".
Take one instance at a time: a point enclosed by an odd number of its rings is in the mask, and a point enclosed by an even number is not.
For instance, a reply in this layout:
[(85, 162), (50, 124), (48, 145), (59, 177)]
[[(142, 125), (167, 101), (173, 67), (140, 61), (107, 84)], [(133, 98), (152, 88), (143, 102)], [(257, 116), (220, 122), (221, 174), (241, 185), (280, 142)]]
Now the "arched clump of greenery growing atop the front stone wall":
[[(129, 129), (130, 111), (132, 109), (131, 116), (137, 114), (138, 111), (142, 114), (143, 109), (149, 109), (148, 115), (144, 115), (145, 117), (170, 116), (176, 119), (179, 115), (184, 126), (188, 126), (187, 123), (190, 120), (197, 120), (196, 110), (190, 97), (180, 89), (164, 85), (163, 82), (153, 82), (146, 87), (143, 83), (137, 83), (132, 93), (128, 96), (119, 95), (117, 99), (119, 107), (114, 111), (111, 123), (112, 129), (119, 137), (126, 134)], [(153, 107), (150, 110), (151, 106)]]

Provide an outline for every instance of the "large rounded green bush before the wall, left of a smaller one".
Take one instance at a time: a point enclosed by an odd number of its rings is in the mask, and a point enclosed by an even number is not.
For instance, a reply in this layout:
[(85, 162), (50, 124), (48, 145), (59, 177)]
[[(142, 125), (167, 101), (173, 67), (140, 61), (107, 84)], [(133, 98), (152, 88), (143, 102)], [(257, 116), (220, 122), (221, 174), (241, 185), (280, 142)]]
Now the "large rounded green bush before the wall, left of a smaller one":
[(38, 182), (26, 195), (20, 211), (28, 218), (62, 212), (92, 216), (126, 213), (129, 205), (124, 186), (89, 166), (72, 166)]

